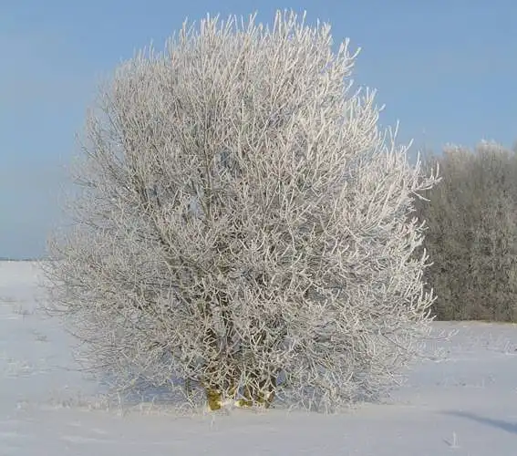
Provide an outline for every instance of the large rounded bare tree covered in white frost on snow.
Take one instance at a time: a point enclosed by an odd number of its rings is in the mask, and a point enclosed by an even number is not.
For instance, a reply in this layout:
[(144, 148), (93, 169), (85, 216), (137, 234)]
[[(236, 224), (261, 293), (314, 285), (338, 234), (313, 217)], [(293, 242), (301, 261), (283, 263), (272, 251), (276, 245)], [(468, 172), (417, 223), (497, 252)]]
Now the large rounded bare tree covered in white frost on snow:
[(278, 12), (184, 25), (118, 68), (47, 267), (89, 368), (211, 409), (336, 409), (393, 385), (429, 331), (408, 214), (437, 178), (377, 129), (356, 56)]

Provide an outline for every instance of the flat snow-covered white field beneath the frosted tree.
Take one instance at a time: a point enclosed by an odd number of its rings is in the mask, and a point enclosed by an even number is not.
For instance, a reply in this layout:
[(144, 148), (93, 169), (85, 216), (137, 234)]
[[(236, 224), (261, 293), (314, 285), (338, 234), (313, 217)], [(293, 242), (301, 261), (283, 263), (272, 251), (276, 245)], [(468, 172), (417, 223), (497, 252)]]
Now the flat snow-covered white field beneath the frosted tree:
[(517, 326), (436, 324), (457, 330), (437, 343), (446, 358), (413, 368), (387, 403), (346, 414), (109, 409), (38, 310), (37, 275), (0, 262), (0, 455), (517, 455)]

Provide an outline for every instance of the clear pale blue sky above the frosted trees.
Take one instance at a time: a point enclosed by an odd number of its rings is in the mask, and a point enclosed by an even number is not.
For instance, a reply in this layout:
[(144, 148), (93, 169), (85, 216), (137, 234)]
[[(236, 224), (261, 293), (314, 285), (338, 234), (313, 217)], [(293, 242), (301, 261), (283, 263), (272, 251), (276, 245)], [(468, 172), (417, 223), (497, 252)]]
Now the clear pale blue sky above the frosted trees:
[[(260, 6), (259, 6), (260, 5)], [(58, 192), (98, 77), (134, 50), (161, 47), (185, 17), (270, 21), (307, 11), (362, 47), (355, 79), (378, 89), (400, 140), (439, 150), (517, 140), (517, 2), (512, 0), (2, 0), (0, 257), (38, 257), (58, 223)]]

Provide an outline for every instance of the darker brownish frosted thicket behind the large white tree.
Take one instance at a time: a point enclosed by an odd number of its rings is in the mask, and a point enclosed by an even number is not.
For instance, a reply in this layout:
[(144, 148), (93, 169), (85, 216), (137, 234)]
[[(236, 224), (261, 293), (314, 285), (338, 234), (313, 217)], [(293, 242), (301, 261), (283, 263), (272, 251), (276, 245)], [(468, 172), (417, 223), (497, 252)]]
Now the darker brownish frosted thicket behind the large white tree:
[(442, 182), (426, 192), (419, 216), (433, 265), (425, 280), (437, 292), (442, 320), (517, 321), (517, 157), (493, 142), (451, 146), (439, 163)]

